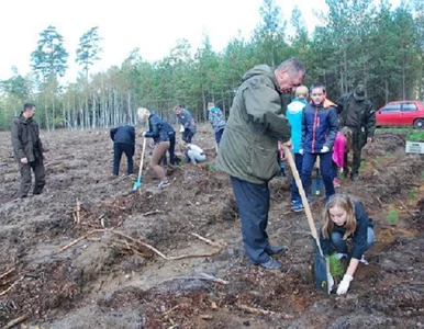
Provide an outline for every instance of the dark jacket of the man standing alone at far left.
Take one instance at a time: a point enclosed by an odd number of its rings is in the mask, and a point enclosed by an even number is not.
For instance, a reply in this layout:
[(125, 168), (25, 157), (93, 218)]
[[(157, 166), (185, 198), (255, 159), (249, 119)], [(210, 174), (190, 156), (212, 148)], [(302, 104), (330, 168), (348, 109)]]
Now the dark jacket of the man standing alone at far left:
[(25, 118), (22, 114), (16, 116), (11, 125), (11, 135), (16, 161), (26, 158), (29, 162), (33, 162), (43, 158), (45, 149), (40, 139), (40, 128), (35, 120)]

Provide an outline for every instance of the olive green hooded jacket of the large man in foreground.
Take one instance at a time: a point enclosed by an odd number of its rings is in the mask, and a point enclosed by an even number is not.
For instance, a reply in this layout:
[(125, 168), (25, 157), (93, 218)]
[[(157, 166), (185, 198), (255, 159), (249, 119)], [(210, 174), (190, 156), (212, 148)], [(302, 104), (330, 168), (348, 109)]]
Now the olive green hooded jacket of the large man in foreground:
[(270, 67), (260, 65), (243, 77), (220, 144), (216, 169), (254, 184), (279, 172), (278, 140), (290, 139), (290, 125)]

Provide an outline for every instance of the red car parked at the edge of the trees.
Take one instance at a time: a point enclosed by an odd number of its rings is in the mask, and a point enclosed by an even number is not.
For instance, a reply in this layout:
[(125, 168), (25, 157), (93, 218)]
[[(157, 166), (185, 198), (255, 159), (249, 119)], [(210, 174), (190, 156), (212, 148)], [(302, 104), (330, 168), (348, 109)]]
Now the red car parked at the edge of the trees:
[(377, 126), (413, 126), (424, 128), (424, 104), (421, 101), (387, 103), (376, 112)]

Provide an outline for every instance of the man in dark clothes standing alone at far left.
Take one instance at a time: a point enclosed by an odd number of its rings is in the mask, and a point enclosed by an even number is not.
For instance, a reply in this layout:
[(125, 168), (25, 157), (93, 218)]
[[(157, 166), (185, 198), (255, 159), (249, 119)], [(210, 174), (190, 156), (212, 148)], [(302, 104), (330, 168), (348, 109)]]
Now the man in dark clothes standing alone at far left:
[(13, 118), (11, 125), (12, 147), (14, 158), (19, 163), (21, 172), (20, 197), (26, 197), (30, 192), (32, 178), (31, 169), (34, 172), (35, 182), (33, 195), (41, 194), (45, 185), (44, 148), (40, 139), (40, 128), (35, 120), (35, 105), (26, 103), (21, 114)]

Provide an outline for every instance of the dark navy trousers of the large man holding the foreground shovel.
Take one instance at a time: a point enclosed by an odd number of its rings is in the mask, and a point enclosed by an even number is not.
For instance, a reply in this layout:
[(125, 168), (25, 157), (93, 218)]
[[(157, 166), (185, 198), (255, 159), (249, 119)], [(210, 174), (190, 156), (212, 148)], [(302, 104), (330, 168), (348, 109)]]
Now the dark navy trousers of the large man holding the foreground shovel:
[(267, 225), (269, 211), (268, 184), (253, 184), (231, 177), (238, 215), (242, 220), (244, 249), (255, 264), (269, 260)]

